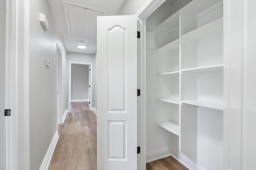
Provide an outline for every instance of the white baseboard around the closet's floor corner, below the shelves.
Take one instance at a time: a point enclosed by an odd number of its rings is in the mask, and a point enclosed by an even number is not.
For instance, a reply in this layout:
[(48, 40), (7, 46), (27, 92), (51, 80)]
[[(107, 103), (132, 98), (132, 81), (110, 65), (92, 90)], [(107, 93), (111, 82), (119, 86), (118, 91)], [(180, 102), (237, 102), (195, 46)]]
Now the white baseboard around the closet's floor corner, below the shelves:
[(178, 160), (190, 170), (205, 170), (202, 166), (196, 164), (182, 152), (177, 152), (169, 147), (148, 152), (146, 155), (146, 162), (152, 162), (154, 160), (162, 159), (167, 156), (173, 156), (176, 160)]

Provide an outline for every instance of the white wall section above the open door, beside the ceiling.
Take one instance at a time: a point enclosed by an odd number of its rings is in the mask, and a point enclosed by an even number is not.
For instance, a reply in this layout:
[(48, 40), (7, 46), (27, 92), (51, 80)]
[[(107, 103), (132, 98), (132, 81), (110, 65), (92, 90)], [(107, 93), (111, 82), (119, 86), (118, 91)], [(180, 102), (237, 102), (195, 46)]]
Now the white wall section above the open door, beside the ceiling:
[(125, 0), (117, 15), (135, 15), (147, 0)]

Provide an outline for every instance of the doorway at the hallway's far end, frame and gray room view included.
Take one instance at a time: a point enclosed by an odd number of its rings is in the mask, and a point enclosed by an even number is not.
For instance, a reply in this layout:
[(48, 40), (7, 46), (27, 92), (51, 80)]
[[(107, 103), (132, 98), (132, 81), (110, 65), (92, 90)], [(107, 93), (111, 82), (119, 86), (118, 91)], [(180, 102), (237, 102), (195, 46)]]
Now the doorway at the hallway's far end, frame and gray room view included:
[(71, 102), (88, 102), (92, 108), (92, 63), (69, 62), (68, 110)]

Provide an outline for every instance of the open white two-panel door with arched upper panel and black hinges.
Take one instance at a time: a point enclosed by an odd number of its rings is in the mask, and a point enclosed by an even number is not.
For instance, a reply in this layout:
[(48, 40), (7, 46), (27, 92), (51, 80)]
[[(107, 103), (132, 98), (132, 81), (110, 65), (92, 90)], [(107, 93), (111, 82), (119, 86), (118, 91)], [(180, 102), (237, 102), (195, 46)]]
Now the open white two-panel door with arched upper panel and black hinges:
[(137, 16), (97, 18), (97, 168), (137, 169)]

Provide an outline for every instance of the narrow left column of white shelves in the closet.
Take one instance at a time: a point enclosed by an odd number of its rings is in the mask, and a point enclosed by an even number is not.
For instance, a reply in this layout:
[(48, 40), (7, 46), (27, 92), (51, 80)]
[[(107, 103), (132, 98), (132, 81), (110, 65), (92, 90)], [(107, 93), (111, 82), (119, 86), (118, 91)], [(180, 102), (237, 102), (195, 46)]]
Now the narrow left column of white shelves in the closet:
[[(168, 98), (158, 99), (160, 102), (166, 102), (170, 104), (175, 104), (179, 107), (180, 96), (179, 96), (179, 76), (180, 76), (180, 13), (176, 12), (170, 16), (167, 20), (160, 23), (157, 27), (162, 31), (167, 31), (171, 34), (170, 43), (163, 45), (157, 49), (158, 56), (162, 58), (164, 63), (169, 65), (170, 71), (161, 72), (157, 74), (158, 78), (168, 78), (170, 83), (170, 95)], [(167, 59), (163, 59), (167, 58)], [(169, 62), (168, 62), (169, 61)], [(175, 115), (179, 113), (173, 111)], [(171, 133), (179, 136), (180, 135), (180, 125), (176, 124), (170, 120), (158, 124), (163, 129), (170, 131)]]

